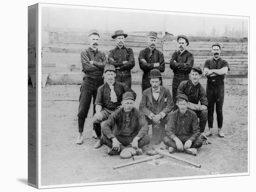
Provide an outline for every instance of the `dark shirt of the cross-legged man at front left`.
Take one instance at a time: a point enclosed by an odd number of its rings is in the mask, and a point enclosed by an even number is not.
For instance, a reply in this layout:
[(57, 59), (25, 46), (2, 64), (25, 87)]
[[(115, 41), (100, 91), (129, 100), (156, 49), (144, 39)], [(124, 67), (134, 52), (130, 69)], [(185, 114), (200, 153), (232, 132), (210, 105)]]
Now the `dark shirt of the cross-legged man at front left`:
[(113, 139), (116, 135), (142, 138), (148, 134), (148, 129), (145, 115), (139, 109), (133, 108), (126, 113), (123, 108), (119, 108), (108, 117), (102, 126), (102, 133), (107, 135), (108, 139)]

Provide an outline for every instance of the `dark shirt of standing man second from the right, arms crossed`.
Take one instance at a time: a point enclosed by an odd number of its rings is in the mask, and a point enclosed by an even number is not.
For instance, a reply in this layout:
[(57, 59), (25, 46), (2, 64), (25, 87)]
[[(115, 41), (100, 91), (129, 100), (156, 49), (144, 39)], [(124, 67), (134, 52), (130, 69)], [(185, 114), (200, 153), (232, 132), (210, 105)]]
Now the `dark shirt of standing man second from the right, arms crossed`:
[[(174, 62), (176, 61), (176, 63)], [(174, 73), (179, 75), (189, 74), (192, 67), (194, 65), (194, 56), (188, 50), (175, 51), (172, 54), (172, 58), (170, 61), (170, 68), (173, 70)]]

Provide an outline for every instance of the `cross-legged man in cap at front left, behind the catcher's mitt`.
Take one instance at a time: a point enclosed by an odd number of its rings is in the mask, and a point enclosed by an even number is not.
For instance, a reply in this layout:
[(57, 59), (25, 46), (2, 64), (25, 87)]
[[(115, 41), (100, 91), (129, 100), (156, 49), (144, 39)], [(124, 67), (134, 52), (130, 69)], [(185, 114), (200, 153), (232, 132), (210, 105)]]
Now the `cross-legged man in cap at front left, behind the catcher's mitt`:
[(123, 94), (122, 108), (112, 113), (102, 125), (101, 143), (110, 149), (109, 155), (120, 154), (125, 147), (133, 147), (142, 154), (141, 147), (150, 142), (148, 123), (139, 109), (134, 108), (135, 94)]

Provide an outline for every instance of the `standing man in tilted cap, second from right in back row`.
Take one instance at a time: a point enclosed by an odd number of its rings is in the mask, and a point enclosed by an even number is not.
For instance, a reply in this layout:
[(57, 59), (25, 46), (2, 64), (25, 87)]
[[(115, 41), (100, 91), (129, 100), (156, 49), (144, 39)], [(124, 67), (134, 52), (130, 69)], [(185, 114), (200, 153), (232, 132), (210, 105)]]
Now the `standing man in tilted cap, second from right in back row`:
[(179, 84), (182, 81), (189, 80), (189, 73), (194, 65), (193, 54), (186, 50), (189, 45), (189, 39), (185, 35), (177, 37), (179, 51), (175, 51), (170, 61), (170, 68), (173, 70), (174, 76), (172, 81), (172, 98), (176, 107), (176, 94)]

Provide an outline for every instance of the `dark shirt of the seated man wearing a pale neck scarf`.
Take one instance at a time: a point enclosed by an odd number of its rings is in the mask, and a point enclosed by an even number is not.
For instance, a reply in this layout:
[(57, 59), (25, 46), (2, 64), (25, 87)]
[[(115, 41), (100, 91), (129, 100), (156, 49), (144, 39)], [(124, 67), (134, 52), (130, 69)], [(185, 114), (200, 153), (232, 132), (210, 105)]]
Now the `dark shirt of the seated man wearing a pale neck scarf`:
[(106, 82), (98, 88), (95, 105), (101, 105), (106, 109), (115, 111), (115, 109), (121, 105), (122, 95), (125, 92), (134, 92), (131, 88), (129, 88), (124, 83), (115, 82), (113, 86), (114, 86), (115, 94), (117, 97), (117, 102), (111, 101), (111, 98), (110, 98), (111, 90), (109, 88), (108, 83)]

